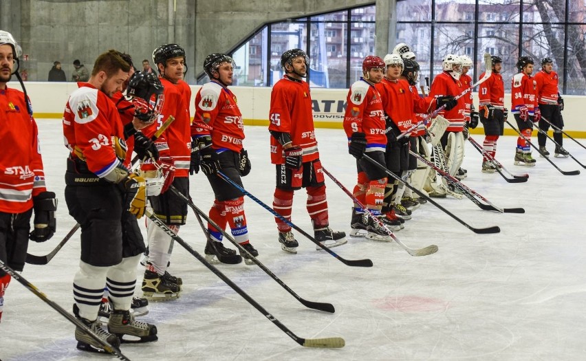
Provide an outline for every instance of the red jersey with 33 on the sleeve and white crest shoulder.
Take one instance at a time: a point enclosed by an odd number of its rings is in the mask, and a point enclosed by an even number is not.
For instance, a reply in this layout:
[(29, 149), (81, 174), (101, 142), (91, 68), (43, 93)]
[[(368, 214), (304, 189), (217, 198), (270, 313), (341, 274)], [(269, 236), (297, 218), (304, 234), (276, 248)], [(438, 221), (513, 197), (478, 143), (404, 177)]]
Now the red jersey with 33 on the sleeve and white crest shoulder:
[(69, 96), (63, 113), (65, 146), (76, 158), (77, 148), (87, 168), (100, 178), (106, 177), (122, 162), (116, 157), (112, 138), (124, 139), (124, 129), (116, 105), (105, 93), (89, 83), (78, 83)]

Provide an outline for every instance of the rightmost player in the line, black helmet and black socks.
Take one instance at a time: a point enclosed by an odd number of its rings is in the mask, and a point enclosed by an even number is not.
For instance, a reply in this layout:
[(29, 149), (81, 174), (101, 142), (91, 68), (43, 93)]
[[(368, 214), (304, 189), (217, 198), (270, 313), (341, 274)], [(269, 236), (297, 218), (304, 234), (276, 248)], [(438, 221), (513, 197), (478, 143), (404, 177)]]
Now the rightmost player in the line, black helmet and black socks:
[[(554, 129), (554, 140), (560, 146), (556, 146), (554, 157), (567, 158), (569, 153), (563, 149), (563, 118), (561, 111), (563, 111), (563, 98), (559, 93), (558, 88), (558, 74), (554, 72), (554, 61), (550, 57), (541, 59), (541, 70), (535, 74), (535, 81), (537, 82), (537, 103), (541, 111), (542, 118), (539, 120), (539, 128), (547, 133), (550, 129), (550, 124), (545, 122), (543, 118), (549, 120), (558, 129)], [(545, 156), (550, 155), (550, 152), (545, 149), (545, 142), (547, 137), (545, 134), (537, 133), (537, 142), (539, 143), (539, 150)]]

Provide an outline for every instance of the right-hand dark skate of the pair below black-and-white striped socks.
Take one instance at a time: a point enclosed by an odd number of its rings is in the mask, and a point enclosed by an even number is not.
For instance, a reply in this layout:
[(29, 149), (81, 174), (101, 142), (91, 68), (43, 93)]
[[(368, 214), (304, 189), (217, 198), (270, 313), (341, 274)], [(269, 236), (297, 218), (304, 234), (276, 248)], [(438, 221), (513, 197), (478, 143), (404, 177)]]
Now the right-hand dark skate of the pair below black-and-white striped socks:
[(108, 331), (122, 343), (142, 343), (158, 340), (157, 327), (134, 319), (128, 310), (114, 309), (108, 321)]

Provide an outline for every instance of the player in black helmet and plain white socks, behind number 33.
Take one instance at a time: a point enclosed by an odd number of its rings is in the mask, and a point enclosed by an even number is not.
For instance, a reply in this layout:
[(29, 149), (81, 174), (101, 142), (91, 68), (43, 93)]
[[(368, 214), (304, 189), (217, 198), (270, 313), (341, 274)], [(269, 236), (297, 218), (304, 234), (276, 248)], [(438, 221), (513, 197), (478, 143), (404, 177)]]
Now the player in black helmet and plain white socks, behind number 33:
[[(175, 117), (169, 128), (155, 140), (164, 164), (175, 167), (173, 185), (180, 193), (189, 194), (189, 168), (191, 163), (191, 120), (189, 105), (185, 104), (186, 95), (182, 91), (180, 80), (183, 80), (185, 69), (185, 50), (177, 44), (160, 45), (153, 51), (153, 63), (157, 66), (159, 79), (163, 85), (164, 104), (158, 121), (143, 130), (144, 135), (151, 137), (161, 125)], [(159, 168), (158, 164), (147, 160), (142, 170), (152, 171)], [(175, 234), (185, 224), (187, 204), (175, 193), (162, 189), (160, 195), (149, 197), (153, 213), (165, 223)], [(173, 239), (154, 222), (147, 222), (146, 240), (149, 243), (148, 261), (142, 280), (142, 293), (149, 300), (169, 300), (178, 298), (182, 291), (182, 278), (171, 276), (167, 271)]]

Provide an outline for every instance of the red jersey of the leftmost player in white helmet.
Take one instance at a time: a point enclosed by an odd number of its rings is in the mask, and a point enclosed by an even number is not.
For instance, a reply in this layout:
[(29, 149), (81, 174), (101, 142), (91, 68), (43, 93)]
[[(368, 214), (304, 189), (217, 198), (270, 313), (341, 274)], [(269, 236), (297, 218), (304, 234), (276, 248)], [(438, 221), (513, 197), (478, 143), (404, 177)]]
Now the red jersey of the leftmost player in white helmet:
[(38, 130), (22, 91), (0, 89), (0, 109), (0, 212), (22, 213), (46, 190)]

